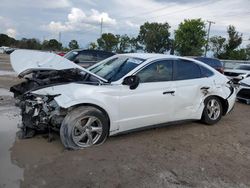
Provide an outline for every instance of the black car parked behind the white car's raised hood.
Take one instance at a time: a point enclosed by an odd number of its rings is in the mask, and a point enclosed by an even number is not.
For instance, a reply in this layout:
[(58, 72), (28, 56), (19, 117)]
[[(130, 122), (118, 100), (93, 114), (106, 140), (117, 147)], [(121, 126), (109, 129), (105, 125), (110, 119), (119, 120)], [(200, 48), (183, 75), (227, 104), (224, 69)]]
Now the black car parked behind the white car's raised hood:
[(115, 54), (112, 52), (106, 52), (102, 50), (77, 49), (68, 52), (64, 57), (70, 61), (75, 62), (76, 64), (79, 64), (82, 67), (87, 68), (113, 55)]

